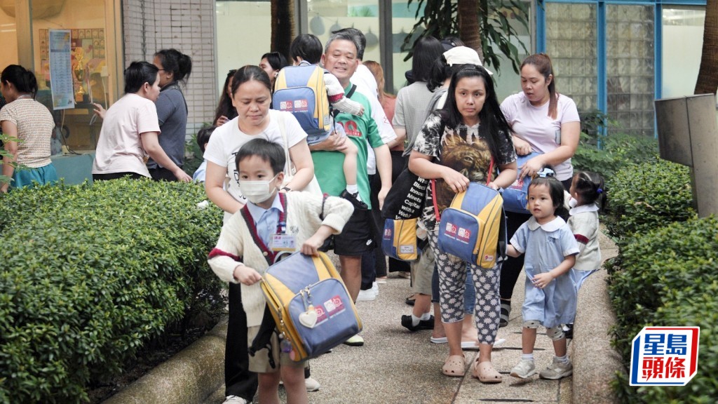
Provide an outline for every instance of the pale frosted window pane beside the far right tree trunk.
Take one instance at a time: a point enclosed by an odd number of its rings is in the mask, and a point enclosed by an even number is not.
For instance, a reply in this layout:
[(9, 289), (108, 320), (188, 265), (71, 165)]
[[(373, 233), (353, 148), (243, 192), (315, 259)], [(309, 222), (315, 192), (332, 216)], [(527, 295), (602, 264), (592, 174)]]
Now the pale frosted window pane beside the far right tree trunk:
[(696, 88), (701, 64), (705, 9), (664, 6), (662, 19), (662, 97), (689, 96)]

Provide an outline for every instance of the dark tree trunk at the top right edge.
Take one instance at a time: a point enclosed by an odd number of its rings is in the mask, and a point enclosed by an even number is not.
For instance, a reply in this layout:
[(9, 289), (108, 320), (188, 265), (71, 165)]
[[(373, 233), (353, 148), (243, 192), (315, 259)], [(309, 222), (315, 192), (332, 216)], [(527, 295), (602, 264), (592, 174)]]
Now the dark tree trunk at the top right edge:
[(718, 90), (718, 0), (708, 0), (703, 27), (701, 68), (694, 94), (715, 94)]

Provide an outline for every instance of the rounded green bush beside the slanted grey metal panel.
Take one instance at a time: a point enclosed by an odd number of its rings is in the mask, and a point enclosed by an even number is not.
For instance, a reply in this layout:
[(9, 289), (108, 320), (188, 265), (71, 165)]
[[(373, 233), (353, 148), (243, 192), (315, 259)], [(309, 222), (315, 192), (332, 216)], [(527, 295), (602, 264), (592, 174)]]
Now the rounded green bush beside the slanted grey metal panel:
[(608, 191), (609, 234), (620, 245), (640, 234), (673, 221), (694, 217), (688, 167), (666, 160), (624, 167), (612, 178)]

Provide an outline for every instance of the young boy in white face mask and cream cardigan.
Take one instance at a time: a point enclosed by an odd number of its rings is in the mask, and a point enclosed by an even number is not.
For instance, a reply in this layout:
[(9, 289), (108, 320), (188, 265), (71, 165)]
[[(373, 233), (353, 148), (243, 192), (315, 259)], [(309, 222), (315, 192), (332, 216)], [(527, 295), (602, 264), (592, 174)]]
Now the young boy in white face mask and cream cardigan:
[[(241, 283), (248, 345), (258, 332), (266, 305), (259, 280), (276, 254), (317, 254), (327, 237), (342, 231), (354, 210), (343, 198), (279, 193), (285, 160), (284, 148), (265, 139), (253, 139), (242, 146), (236, 165), (239, 186), (248, 203), (225, 223), (208, 259), (221, 280)], [(231, 311), (229, 316), (233, 316)], [(262, 349), (249, 359), (249, 369), (259, 376), (259, 402), (279, 403), (281, 379), (288, 398), (292, 397), (289, 402), (307, 403), (304, 362), (294, 362), (291, 352), (281, 352), (276, 333), (271, 346), (271, 351)]]

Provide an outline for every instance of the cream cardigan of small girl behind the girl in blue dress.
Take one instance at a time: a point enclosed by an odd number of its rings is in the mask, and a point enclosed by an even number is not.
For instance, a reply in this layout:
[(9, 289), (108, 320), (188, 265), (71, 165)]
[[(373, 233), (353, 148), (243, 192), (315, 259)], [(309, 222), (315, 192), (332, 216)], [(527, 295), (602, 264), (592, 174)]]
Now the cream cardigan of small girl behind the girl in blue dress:
[(569, 211), (569, 227), (579, 245), (574, 270), (592, 271), (601, 267), (598, 245), (598, 206), (595, 203), (576, 206)]

